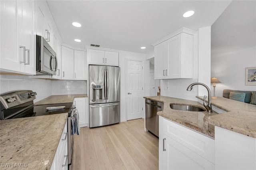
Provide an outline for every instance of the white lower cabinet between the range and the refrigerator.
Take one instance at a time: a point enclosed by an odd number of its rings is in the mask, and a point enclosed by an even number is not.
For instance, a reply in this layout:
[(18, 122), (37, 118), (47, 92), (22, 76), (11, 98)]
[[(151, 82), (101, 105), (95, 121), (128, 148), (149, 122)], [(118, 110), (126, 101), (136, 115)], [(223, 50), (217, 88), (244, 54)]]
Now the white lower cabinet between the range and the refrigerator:
[(78, 110), (80, 127), (88, 126), (88, 111), (89, 111), (88, 98), (87, 97), (74, 98), (74, 105)]

